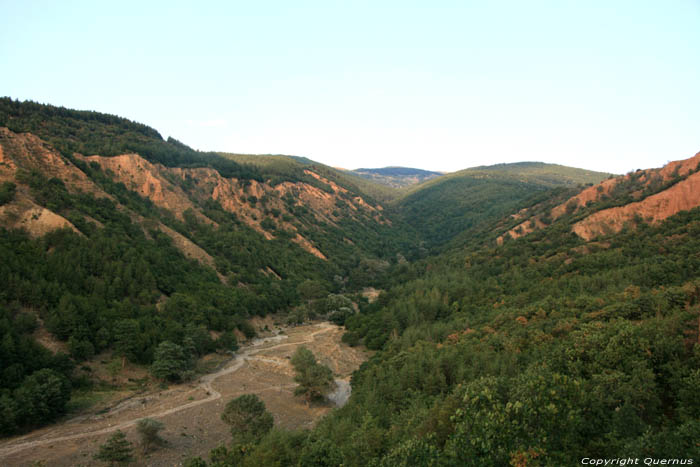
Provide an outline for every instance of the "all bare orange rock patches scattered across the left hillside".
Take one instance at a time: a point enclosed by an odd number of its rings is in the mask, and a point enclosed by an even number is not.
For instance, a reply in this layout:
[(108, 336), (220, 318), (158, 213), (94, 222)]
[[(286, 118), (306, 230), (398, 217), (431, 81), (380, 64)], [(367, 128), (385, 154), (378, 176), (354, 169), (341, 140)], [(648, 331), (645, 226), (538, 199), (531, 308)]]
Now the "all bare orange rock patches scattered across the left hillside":
[[(256, 180), (225, 178), (212, 168), (165, 167), (151, 163), (138, 154), (114, 157), (73, 154), (72, 158), (86, 164), (98, 164), (115, 181), (173, 213), (179, 220), (184, 221), (188, 215), (193, 215), (197, 221), (216, 227), (217, 223), (201, 209), (207, 200), (213, 199), (266, 239), (273, 239), (277, 232), (286, 231), (292, 242), (323, 260), (328, 259), (326, 254), (302, 233), (314, 228), (314, 224), (317, 224), (317, 228), (337, 225), (341, 219), (348, 217), (358, 222), (389, 224), (381, 206), (367, 203), (361, 196), (310, 169), (304, 173), (315, 179), (311, 183), (298, 181), (272, 185)], [(64, 227), (78, 231), (59, 214), (39, 206), (32, 198), (32, 190), (18, 181), (18, 173), (33, 170), (47, 179), (60, 179), (71, 193), (85, 192), (96, 197), (108, 197), (134, 222), (146, 222), (103, 191), (71, 162), (71, 158), (64, 157), (40, 138), (0, 128), (0, 182), (12, 181), (17, 184), (15, 200), (0, 209), (3, 226), (25, 228), (36, 236)], [(94, 223), (99, 227), (99, 223)], [(214, 267), (212, 257), (191, 240), (162, 224), (158, 228), (170, 236), (173, 244), (186, 256)]]

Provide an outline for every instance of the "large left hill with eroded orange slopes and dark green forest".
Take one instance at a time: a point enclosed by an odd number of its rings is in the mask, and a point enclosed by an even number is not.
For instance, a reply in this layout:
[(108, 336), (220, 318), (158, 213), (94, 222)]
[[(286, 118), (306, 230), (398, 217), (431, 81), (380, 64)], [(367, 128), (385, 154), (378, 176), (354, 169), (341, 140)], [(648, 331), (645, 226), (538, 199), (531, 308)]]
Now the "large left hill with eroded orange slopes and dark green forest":
[[(166, 343), (186, 373), (235, 348), (247, 318), (304, 319), (308, 300), (374, 284), (396, 261), (409, 240), (381, 204), (337, 171), (274, 162), (0, 99), (0, 433), (60, 416), (70, 387), (92, 380), (78, 362), (106, 352), (150, 365)], [(47, 331), (68, 355), (33, 338)], [(51, 402), (34, 389), (48, 382)]]

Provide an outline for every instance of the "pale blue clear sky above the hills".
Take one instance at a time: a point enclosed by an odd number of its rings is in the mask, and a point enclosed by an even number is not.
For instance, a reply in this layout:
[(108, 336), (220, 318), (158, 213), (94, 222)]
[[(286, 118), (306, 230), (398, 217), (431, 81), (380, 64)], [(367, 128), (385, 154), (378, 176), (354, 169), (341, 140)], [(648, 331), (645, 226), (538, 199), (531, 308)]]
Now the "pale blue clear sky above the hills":
[(0, 96), (348, 169), (700, 151), (700, 0), (0, 0)]

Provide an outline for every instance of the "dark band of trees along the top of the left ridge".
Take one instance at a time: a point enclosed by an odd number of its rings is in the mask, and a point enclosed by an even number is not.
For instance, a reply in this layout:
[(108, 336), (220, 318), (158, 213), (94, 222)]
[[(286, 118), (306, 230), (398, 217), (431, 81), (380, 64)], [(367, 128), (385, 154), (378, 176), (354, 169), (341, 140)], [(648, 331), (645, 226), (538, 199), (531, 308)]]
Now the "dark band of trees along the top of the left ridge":
[[(332, 192), (329, 185), (304, 173), (305, 168), (312, 168), (352, 192), (359, 191), (338, 171), (308, 159), (290, 157), (287, 161), (259, 164), (254, 163), (258, 156), (240, 156), (246, 162), (238, 162), (236, 155), (196, 151), (172, 137), (164, 140), (158, 131), (144, 124), (100, 112), (0, 97), (0, 126), (15, 133), (31, 132), (69, 158), (74, 152), (105, 157), (136, 153), (166, 167), (211, 167), (226, 178), (267, 181), (272, 185), (303, 181)], [(371, 199), (369, 202), (374, 204)]]

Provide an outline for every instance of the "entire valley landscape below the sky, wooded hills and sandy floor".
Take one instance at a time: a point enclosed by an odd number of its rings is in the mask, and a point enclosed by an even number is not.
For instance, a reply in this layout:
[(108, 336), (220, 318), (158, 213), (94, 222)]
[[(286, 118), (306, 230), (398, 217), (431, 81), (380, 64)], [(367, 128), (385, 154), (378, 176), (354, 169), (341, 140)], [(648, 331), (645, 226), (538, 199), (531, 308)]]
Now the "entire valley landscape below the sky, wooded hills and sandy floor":
[[(700, 154), (684, 156), (362, 178), (2, 98), (0, 459), (91, 465), (143, 417), (168, 445), (139, 465), (698, 457)], [(302, 344), (338, 382), (325, 402), (293, 395)], [(233, 440), (220, 414), (243, 394), (275, 429)]]

